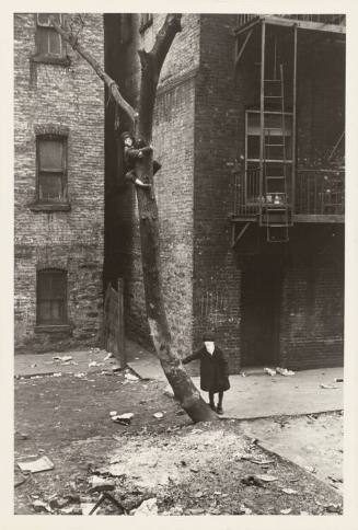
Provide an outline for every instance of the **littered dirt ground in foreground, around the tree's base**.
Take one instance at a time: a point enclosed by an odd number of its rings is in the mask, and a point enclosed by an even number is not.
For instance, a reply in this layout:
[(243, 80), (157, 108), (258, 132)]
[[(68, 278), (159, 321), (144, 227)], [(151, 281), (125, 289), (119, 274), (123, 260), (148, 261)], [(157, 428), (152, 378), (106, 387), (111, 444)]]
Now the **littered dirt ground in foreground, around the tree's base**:
[[(16, 379), (14, 512), (85, 514), (95, 484), (131, 514), (342, 512), (339, 492), (314, 473), (258, 447), (239, 420), (193, 425), (164, 387), (112, 371)], [(134, 413), (130, 425), (111, 412)], [(44, 454), (53, 470), (19, 471)], [(122, 510), (106, 500), (96, 512)]]

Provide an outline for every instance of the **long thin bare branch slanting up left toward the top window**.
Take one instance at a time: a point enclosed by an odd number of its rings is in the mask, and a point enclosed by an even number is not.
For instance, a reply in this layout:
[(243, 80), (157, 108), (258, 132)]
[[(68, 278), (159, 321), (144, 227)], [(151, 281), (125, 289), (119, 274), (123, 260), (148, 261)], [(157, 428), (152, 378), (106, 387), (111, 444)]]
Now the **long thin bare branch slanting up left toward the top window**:
[(69, 45), (79, 53), (79, 55), (93, 68), (95, 73), (99, 76), (102, 81), (107, 85), (109, 93), (113, 95), (113, 99), (117, 103), (117, 105), (129, 116), (130, 120), (136, 124), (138, 118), (138, 113), (132, 108), (131, 105), (123, 97), (119, 92), (117, 83), (104, 71), (102, 66), (99, 61), (96, 61), (91, 54), (89, 54), (78, 42), (78, 38), (73, 35), (72, 32), (66, 31), (61, 25), (59, 25), (54, 16), (50, 16), (50, 22), (57, 33), (61, 35), (61, 37), (69, 43)]

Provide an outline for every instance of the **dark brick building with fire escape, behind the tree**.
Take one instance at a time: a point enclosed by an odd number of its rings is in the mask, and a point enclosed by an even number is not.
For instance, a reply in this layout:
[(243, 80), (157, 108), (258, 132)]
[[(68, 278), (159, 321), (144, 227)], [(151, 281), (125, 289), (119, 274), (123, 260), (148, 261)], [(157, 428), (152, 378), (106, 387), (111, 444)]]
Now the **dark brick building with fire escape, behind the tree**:
[[(105, 15), (105, 64), (136, 105), (164, 15)], [(153, 147), (164, 299), (185, 355), (213, 329), (231, 371), (343, 362), (345, 25), (335, 15), (184, 14)], [(149, 343), (135, 191), (106, 115), (105, 277)]]

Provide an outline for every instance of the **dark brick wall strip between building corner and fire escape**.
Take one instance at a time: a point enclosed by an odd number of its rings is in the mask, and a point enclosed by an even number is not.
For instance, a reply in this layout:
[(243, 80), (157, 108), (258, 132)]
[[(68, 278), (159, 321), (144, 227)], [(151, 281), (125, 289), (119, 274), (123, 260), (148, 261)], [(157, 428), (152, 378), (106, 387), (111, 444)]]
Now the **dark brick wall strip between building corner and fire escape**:
[(238, 158), (238, 92), (232, 15), (200, 18), (200, 76), (195, 115), (194, 346), (205, 330), (240, 366), (241, 273), (230, 245), (232, 168)]

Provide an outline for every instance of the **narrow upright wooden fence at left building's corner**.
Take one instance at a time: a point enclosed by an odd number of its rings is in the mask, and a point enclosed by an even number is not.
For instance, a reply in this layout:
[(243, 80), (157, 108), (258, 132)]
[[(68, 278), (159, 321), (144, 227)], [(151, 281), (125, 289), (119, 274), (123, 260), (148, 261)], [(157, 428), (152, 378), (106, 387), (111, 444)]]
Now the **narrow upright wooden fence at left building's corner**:
[(127, 364), (123, 292), (123, 279), (119, 278), (117, 290), (108, 284), (104, 299), (104, 348), (114, 354), (120, 368)]

